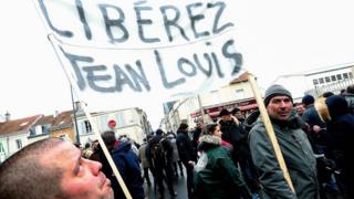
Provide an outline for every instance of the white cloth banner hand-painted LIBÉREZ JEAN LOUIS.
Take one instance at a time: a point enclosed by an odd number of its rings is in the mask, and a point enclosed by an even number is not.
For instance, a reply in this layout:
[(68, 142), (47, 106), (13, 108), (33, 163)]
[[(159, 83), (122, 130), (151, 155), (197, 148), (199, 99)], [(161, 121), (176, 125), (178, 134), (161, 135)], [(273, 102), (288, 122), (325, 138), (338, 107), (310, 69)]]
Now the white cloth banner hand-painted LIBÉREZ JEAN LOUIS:
[(35, 2), (69, 80), (91, 107), (191, 96), (241, 71), (228, 1)]

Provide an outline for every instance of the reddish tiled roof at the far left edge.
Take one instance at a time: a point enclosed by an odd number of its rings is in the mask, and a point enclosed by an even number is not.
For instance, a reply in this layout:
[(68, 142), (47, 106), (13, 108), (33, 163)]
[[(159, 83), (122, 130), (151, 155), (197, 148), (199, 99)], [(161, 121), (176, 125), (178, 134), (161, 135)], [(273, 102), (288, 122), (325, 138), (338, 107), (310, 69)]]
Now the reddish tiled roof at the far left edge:
[(0, 135), (28, 130), (41, 117), (43, 117), (43, 115), (34, 115), (31, 117), (0, 123)]

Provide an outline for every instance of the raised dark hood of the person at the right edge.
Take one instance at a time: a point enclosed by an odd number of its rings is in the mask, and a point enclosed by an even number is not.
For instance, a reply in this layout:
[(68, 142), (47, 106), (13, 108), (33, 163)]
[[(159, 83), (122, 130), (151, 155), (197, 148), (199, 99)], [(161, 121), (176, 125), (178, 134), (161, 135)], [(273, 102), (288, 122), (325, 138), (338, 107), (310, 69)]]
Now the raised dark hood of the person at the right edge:
[(325, 100), (325, 104), (327, 105), (332, 119), (350, 113), (346, 100), (340, 95), (330, 96)]

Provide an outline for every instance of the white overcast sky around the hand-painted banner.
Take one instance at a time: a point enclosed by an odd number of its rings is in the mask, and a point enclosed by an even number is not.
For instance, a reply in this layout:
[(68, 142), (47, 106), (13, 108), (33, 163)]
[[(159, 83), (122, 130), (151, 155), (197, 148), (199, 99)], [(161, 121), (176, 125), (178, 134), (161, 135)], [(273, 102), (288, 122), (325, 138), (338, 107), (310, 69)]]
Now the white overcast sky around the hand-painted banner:
[[(237, 48), (261, 87), (281, 74), (354, 62), (353, 1), (232, 1)], [(71, 109), (69, 82), (31, 0), (0, 7), (0, 114)], [(163, 108), (146, 109), (157, 127)]]

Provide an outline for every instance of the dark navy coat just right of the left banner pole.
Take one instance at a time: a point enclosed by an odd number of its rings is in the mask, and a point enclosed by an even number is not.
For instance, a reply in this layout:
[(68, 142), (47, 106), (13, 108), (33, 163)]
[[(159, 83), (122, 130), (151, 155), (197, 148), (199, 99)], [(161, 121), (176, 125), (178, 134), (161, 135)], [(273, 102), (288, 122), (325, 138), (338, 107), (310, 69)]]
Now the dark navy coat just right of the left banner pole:
[[(144, 188), (140, 172), (139, 160), (136, 154), (132, 150), (132, 144), (121, 142), (119, 145), (112, 150), (112, 158), (119, 170), (119, 174), (134, 199), (143, 199)], [(125, 198), (121, 190), (121, 197)]]

